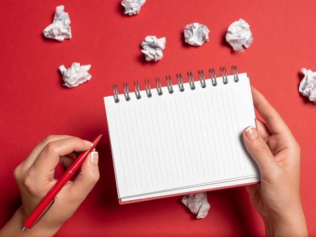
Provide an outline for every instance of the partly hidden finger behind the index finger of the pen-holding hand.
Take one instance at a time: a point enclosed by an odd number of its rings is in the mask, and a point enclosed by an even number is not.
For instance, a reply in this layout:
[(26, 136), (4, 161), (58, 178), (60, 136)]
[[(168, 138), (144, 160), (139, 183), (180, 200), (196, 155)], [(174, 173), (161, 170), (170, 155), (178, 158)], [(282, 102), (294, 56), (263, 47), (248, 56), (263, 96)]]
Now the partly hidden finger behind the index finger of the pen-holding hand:
[(33, 150), (30, 152), (30, 154), (27, 156), (27, 158), (22, 162), (25, 169), (29, 169), (36, 158), (40, 155), (41, 151), (45, 148), (45, 146), (53, 141), (61, 140), (64, 138), (68, 138), (72, 136), (68, 135), (49, 135), (47, 136), (43, 141), (38, 143)]

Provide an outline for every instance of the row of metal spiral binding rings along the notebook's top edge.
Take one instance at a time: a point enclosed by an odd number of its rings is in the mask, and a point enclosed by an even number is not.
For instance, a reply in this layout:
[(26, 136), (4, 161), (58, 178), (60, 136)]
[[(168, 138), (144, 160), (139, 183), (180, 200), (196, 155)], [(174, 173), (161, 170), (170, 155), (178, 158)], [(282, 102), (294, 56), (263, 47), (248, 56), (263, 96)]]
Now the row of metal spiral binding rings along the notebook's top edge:
[[(201, 87), (205, 88), (206, 87), (206, 83), (205, 83), (204, 71), (203, 70), (198, 70), (197, 74), (198, 74), (199, 81), (201, 83)], [(237, 70), (237, 66), (236, 65), (232, 65), (232, 67), (231, 67), (231, 74), (234, 75), (234, 82), (239, 82), (238, 70)], [(228, 83), (227, 70), (226, 70), (225, 67), (220, 67), (219, 75), (220, 75), (220, 77), (223, 78), (223, 84), (227, 84)], [(190, 88), (191, 88), (191, 90), (194, 90), (195, 89), (195, 85), (194, 85), (194, 79), (193, 79), (192, 72), (191, 71), (190, 71), (190, 73), (187, 72), (187, 76), (188, 76), (188, 81), (189, 81)], [(210, 80), (212, 82), (212, 86), (216, 86), (217, 85), (217, 81), (216, 81), (216, 73), (215, 73), (215, 69), (214, 68), (212, 68), (212, 69), (209, 68), (209, 76), (210, 76)], [(146, 81), (146, 79), (144, 79), (144, 81), (145, 81), (147, 97), (150, 98), (150, 97), (152, 97), (152, 94), (151, 94), (149, 79), (147, 78), (147, 81)], [(155, 81), (156, 81), (157, 93), (158, 93), (158, 95), (162, 95), (162, 90), (161, 90), (161, 84), (160, 84), (159, 76), (155, 77)], [(166, 75), (166, 81), (167, 81), (168, 92), (169, 92), (169, 94), (172, 94), (174, 91), (173, 91), (172, 82), (171, 82), (171, 76), (170, 75), (169, 76)], [(182, 80), (181, 73), (177, 74), (177, 82), (178, 82), (179, 91), (183, 92), (184, 91), (184, 85), (183, 85), (183, 80)], [(148, 85), (147, 85), (147, 83), (148, 83)], [(117, 86), (117, 84), (113, 84), (112, 86), (113, 86), (114, 102), (115, 103), (119, 103), (118, 86)], [(123, 82), (123, 88), (124, 88), (125, 100), (126, 101), (131, 100), (130, 90), (129, 90), (127, 82), (125, 82), (125, 83)], [(137, 80), (134, 81), (134, 88), (135, 88), (136, 98), (137, 98), (137, 100), (139, 100), (141, 98), (141, 95), (140, 95), (139, 83), (138, 83)]]

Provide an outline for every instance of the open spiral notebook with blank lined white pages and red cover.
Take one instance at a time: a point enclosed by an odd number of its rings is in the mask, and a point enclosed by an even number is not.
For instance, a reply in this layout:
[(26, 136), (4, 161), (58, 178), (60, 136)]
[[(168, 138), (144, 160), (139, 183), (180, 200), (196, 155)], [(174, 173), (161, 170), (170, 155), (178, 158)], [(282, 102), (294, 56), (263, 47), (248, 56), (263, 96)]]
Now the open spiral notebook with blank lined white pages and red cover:
[[(260, 181), (242, 131), (256, 126), (249, 78), (232, 67), (177, 74), (104, 97), (120, 204)], [(155, 88), (150, 85), (155, 85)]]

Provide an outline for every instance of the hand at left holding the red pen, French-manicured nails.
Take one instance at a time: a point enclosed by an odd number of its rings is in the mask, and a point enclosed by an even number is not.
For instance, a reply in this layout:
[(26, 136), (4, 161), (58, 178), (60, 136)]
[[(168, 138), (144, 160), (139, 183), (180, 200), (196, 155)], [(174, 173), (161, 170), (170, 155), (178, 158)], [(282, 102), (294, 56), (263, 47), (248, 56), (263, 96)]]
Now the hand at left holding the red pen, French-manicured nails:
[[(22, 206), (0, 231), (0, 236), (53, 236), (62, 224), (77, 210), (99, 179), (98, 153), (91, 152), (74, 181), (58, 193), (55, 203), (46, 215), (30, 230), (21, 231), (22, 222), (55, 185), (55, 167), (64, 163), (69, 167), (74, 159), (65, 157), (90, 149), (92, 143), (66, 135), (48, 136), (31, 151), (14, 170), (21, 192)], [(15, 232), (15, 230), (17, 230)], [(4, 235), (3, 235), (4, 236)]]

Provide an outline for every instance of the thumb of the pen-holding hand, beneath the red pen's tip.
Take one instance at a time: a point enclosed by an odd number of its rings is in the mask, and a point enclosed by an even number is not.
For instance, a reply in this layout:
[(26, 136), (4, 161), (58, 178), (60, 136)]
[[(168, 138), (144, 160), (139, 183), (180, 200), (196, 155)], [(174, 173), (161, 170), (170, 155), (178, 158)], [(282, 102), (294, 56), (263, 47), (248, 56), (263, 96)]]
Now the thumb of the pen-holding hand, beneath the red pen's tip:
[(81, 166), (81, 170), (71, 184), (71, 192), (83, 200), (99, 180), (99, 154), (91, 152)]

